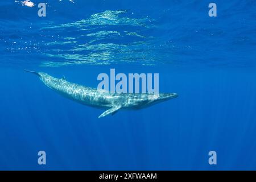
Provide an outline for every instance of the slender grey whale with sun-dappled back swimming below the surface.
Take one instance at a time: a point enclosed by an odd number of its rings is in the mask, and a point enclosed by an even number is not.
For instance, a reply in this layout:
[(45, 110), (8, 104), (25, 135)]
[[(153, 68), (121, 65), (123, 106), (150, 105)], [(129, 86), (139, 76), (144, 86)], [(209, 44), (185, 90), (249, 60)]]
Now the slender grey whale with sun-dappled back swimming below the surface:
[(50, 89), (80, 104), (105, 109), (98, 117), (114, 115), (119, 110), (138, 110), (159, 102), (168, 101), (178, 96), (177, 93), (110, 93), (106, 90), (95, 89), (69, 82), (63, 76), (55, 78), (44, 72), (28, 71), (34, 73)]

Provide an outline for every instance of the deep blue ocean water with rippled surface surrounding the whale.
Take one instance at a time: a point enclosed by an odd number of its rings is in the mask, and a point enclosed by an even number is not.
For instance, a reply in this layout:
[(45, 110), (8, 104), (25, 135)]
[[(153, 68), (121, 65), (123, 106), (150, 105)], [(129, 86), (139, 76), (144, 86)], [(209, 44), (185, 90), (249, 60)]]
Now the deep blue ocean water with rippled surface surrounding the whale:
[[(32, 2), (0, 2), (0, 169), (256, 169), (256, 1)], [(110, 68), (179, 97), (98, 119), (23, 71), (96, 88)]]

